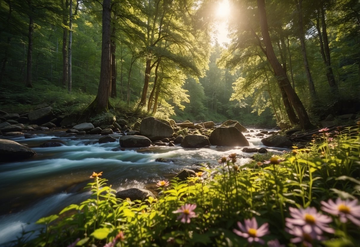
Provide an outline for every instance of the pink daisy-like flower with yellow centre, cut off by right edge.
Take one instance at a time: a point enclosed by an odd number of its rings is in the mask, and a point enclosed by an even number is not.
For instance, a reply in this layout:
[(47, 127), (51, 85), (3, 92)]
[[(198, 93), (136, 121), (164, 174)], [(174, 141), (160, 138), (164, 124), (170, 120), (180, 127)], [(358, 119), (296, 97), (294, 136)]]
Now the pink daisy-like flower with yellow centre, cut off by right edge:
[(339, 216), (342, 223), (346, 223), (347, 220), (351, 220), (355, 225), (360, 226), (360, 205), (358, 205), (357, 199), (345, 201), (337, 198), (335, 202), (329, 199), (328, 202), (321, 202), (321, 210), (328, 212), (329, 214)]

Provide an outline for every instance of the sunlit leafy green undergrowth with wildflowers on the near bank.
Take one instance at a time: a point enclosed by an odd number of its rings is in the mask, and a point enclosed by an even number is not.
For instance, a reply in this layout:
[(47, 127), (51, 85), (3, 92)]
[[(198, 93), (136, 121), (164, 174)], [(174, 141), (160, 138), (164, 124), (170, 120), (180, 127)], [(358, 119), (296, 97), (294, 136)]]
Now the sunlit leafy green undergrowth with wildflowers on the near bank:
[[(238, 166), (236, 154), (158, 198), (116, 198), (102, 172), (92, 197), (40, 219), (18, 246), (358, 246), (359, 126), (322, 129), (306, 149)], [(26, 242), (27, 236), (38, 234)]]

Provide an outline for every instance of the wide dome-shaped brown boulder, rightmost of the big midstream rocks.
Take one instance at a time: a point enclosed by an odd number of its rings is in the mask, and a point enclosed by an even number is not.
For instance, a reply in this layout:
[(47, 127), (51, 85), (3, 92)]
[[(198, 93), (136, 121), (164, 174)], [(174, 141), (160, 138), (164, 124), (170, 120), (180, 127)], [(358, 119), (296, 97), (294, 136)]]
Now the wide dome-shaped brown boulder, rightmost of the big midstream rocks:
[(249, 145), (246, 137), (235, 127), (217, 127), (210, 135), (211, 145), (245, 147)]

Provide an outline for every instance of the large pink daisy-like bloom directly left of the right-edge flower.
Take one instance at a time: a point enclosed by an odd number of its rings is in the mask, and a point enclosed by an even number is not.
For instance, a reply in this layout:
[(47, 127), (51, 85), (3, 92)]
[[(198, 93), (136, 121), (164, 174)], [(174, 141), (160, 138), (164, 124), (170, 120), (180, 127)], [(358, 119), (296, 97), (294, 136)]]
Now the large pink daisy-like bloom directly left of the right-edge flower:
[(285, 218), (285, 220), (286, 226), (290, 229), (294, 228), (294, 226), (301, 226), (306, 233), (315, 232), (321, 234), (323, 231), (334, 233), (334, 229), (327, 225), (332, 219), (327, 215), (319, 214), (314, 207), (305, 209), (289, 207), (289, 211), (292, 218)]

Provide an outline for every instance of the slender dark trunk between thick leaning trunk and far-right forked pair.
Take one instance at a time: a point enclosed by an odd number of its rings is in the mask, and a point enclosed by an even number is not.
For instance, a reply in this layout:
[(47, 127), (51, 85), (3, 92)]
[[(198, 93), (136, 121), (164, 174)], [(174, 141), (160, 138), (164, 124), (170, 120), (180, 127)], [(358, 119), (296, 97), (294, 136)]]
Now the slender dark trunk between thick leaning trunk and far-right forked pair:
[(301, 44), (302, 58), (306, 72), (307, 82), (309, 84), (310, 94), (313, 102), (315, 103), (316, 102), (315, 86), (314, 86), (314, 81), (312, 80), (309, 61), (307, 60), (306, 46), (305, 46), (305, 34), (304, 34), (303, 19), (302, 19), (302, 0), (296, 1), (296, 7), (299, 15), (299, 39)]

